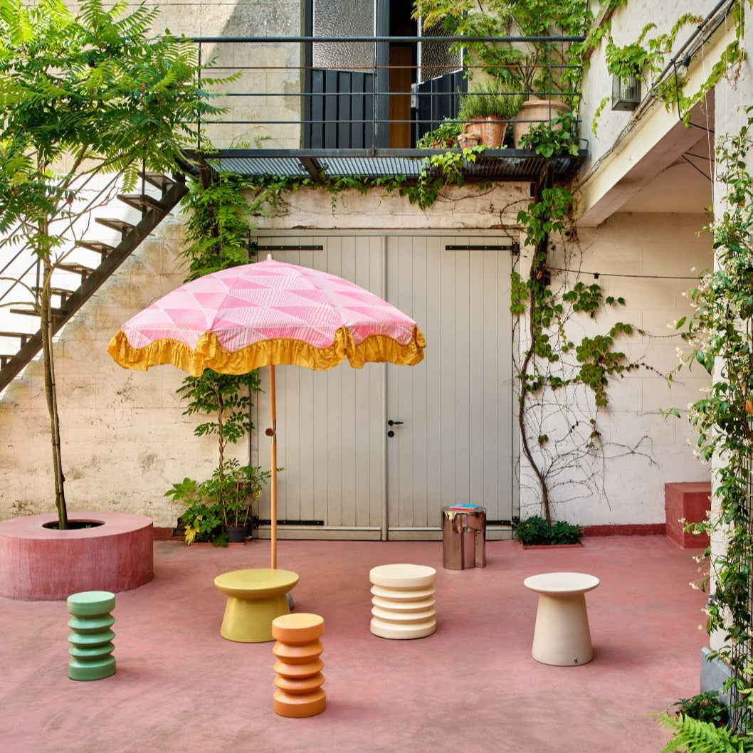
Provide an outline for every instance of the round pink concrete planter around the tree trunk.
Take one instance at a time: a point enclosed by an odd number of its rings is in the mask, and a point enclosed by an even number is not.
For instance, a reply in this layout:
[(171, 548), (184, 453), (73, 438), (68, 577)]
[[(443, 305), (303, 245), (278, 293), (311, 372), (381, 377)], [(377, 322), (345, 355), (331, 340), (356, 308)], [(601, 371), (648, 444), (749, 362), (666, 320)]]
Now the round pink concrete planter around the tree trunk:
[(123, 513), (72, 513), (101, 526), (43, 528), (56, 514), (0, 521), (0, 596), (26, 601), (67, 599), (79, 591), (130, 591), (154, 578), (151, 518)]

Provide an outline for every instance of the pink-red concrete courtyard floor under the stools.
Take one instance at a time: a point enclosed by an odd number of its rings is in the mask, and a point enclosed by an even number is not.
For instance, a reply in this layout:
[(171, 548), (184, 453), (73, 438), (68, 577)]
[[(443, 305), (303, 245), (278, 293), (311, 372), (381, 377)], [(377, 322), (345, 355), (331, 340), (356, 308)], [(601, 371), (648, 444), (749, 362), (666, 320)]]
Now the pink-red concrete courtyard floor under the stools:
[[(171, 751), (659, 751), (651, 714), (699, 690), (706, 645), (694, 550), (664, 536), (587, 538), (578, 549), (486, 544), (485, 569), (442, 568), (440, 542), (281, 541), (300, 573), (296, 611), (325, 619), (319, 716), (272, 709), (271, 643), (219, 635), (215, 575), (268, 567), (270, 544), (218, 550), (154, 544), (154, 581), (117, 595), (117, 673), (67, 675), (65, 602), (0, 598), (2, 753)], [(369, 632), (369, 570), (437, 569), (437, 633), (389, 641)], [(553, 667), (530, 654), (537, 596), (523, 579), (587, 572), (595, 657)]]

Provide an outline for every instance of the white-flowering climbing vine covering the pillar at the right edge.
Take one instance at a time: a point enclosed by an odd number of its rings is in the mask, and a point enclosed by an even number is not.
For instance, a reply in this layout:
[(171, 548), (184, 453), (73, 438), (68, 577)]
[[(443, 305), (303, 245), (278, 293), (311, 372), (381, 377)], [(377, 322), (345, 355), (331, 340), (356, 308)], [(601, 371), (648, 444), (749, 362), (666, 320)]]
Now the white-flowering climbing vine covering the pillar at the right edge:
[[(737, 701), (733, 729), (739, 728), (753, 697), (753, 107), (747, 113), (739, 133), (721, 137), (716, 148), (726, 200), (709, 226), (715, 269), (691, 291), (696, 309), (684, 354), (684, 367), (700, 364), (712, 378), (706, 395), (691, 404), (690, 420), (698, 432), (697, 455), (714, 461), (715, 505), (709, 520), (692, 527), (714, 540), (724, 539), (724, 546), (705, 553), (713, 581), (706, 630), (720, 631), (725, 639), (713, 655), (732, 672), (726, 687)], [(680, 320), (677, 327), (685, 324)]]

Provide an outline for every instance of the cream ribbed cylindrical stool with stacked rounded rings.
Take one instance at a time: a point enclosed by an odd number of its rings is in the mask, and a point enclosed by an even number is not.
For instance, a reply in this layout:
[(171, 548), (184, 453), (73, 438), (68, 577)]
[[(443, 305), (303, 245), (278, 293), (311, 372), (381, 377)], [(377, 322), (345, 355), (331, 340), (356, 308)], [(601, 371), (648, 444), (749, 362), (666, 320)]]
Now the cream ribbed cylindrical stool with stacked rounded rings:
[(437, 571), (425, 565), (380, 565), (369, 573), (372, 583), (371, 632), (380, 638), (404, 640), (431, 636), (434, 581)]

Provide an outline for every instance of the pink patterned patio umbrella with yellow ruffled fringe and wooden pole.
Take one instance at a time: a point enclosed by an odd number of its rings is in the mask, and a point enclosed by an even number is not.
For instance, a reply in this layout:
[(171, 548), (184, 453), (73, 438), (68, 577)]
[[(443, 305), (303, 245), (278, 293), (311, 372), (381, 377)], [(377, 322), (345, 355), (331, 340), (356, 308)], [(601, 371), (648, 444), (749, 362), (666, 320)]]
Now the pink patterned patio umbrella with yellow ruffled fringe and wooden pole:
[(275, 365), (322, 370), (347, 358), (413, 366), (426, 343), (413, 319), (340, 277), (267, 261), (215, 272), (181, 285), (129, 319), (108, 346), (120, 366), (173, 364), (247, 373), (270, 367), (272, 568), (277, 566)]

